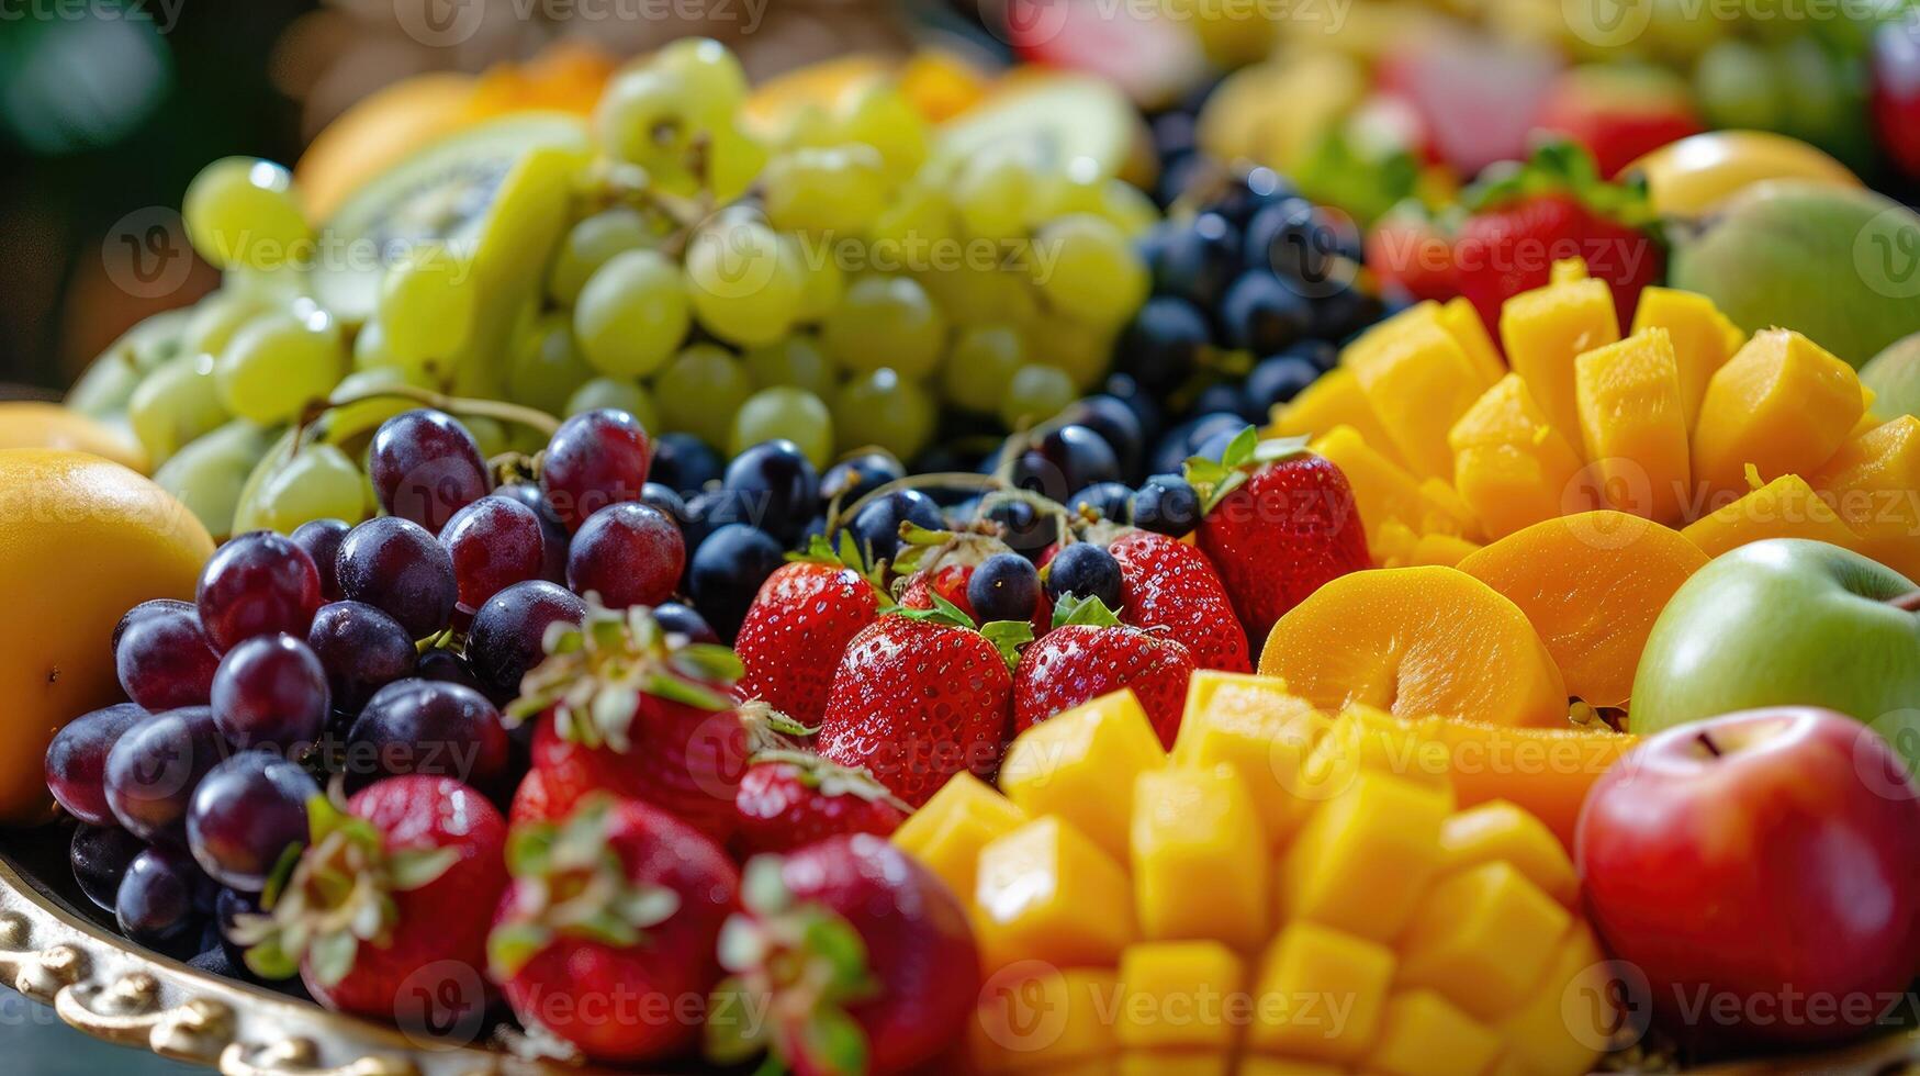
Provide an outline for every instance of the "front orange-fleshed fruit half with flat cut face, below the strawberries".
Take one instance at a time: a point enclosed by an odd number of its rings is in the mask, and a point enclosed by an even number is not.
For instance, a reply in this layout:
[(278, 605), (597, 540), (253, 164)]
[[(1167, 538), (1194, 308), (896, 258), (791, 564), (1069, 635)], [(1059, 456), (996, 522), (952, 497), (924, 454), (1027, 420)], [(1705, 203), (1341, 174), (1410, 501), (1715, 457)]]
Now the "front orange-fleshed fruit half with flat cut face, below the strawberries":
[(1521, 607), (1448, 567), (1327, 582), (1273, 624), (1260, 672), (1325, 711), (1365, 703), (1398, 717), (1567, 721), (1567, 684)]

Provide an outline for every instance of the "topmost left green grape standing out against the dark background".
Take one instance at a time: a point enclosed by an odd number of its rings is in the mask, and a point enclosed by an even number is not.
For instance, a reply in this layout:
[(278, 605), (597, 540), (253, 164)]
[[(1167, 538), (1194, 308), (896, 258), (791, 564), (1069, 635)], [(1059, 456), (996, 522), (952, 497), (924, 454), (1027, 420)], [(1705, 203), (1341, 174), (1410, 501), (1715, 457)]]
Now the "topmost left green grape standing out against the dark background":
[(313, 256), (294, 175), (259, 158), (221, 158), (186, 184), (186, 238), (211, 265), (271, 269)]

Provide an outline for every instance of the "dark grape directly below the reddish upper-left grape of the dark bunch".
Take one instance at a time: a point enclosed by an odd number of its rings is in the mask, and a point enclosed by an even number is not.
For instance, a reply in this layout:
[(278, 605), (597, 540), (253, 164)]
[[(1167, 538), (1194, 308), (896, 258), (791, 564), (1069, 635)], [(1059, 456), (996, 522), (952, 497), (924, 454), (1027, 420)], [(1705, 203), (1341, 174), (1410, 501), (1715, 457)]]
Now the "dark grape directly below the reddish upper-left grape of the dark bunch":
[(213, 721), (240, 747), (311, 744), (326, 728), (326, 669), (294, 636), (255, 636), (227, 651), (213, 676)]

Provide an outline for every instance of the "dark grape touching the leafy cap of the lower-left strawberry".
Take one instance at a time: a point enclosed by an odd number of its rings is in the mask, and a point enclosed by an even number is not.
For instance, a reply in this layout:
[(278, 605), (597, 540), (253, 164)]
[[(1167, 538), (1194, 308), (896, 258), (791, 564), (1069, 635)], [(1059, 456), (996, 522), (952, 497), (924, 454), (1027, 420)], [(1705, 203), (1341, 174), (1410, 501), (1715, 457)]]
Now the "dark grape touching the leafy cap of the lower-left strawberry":
[(213, 767), (186, 807), (186, 847), (221, 886), (257, 893), (288, 845), (307, 840), (321, 786), (298, 765), (244, 751)]

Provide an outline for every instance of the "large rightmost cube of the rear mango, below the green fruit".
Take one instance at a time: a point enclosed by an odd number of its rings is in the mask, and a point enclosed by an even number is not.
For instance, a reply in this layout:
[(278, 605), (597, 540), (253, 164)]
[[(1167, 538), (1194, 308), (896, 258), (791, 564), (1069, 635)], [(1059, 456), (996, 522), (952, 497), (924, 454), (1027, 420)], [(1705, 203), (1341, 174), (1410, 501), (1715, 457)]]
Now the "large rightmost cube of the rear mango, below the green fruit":
[(1770, 482), (1818, 471), (1860, 419), (1860, 379), (1788, 329), (1755, 332), (1707, 382), (1693, 428), (1693, 478), (1747, 490), (1747, 465)]

